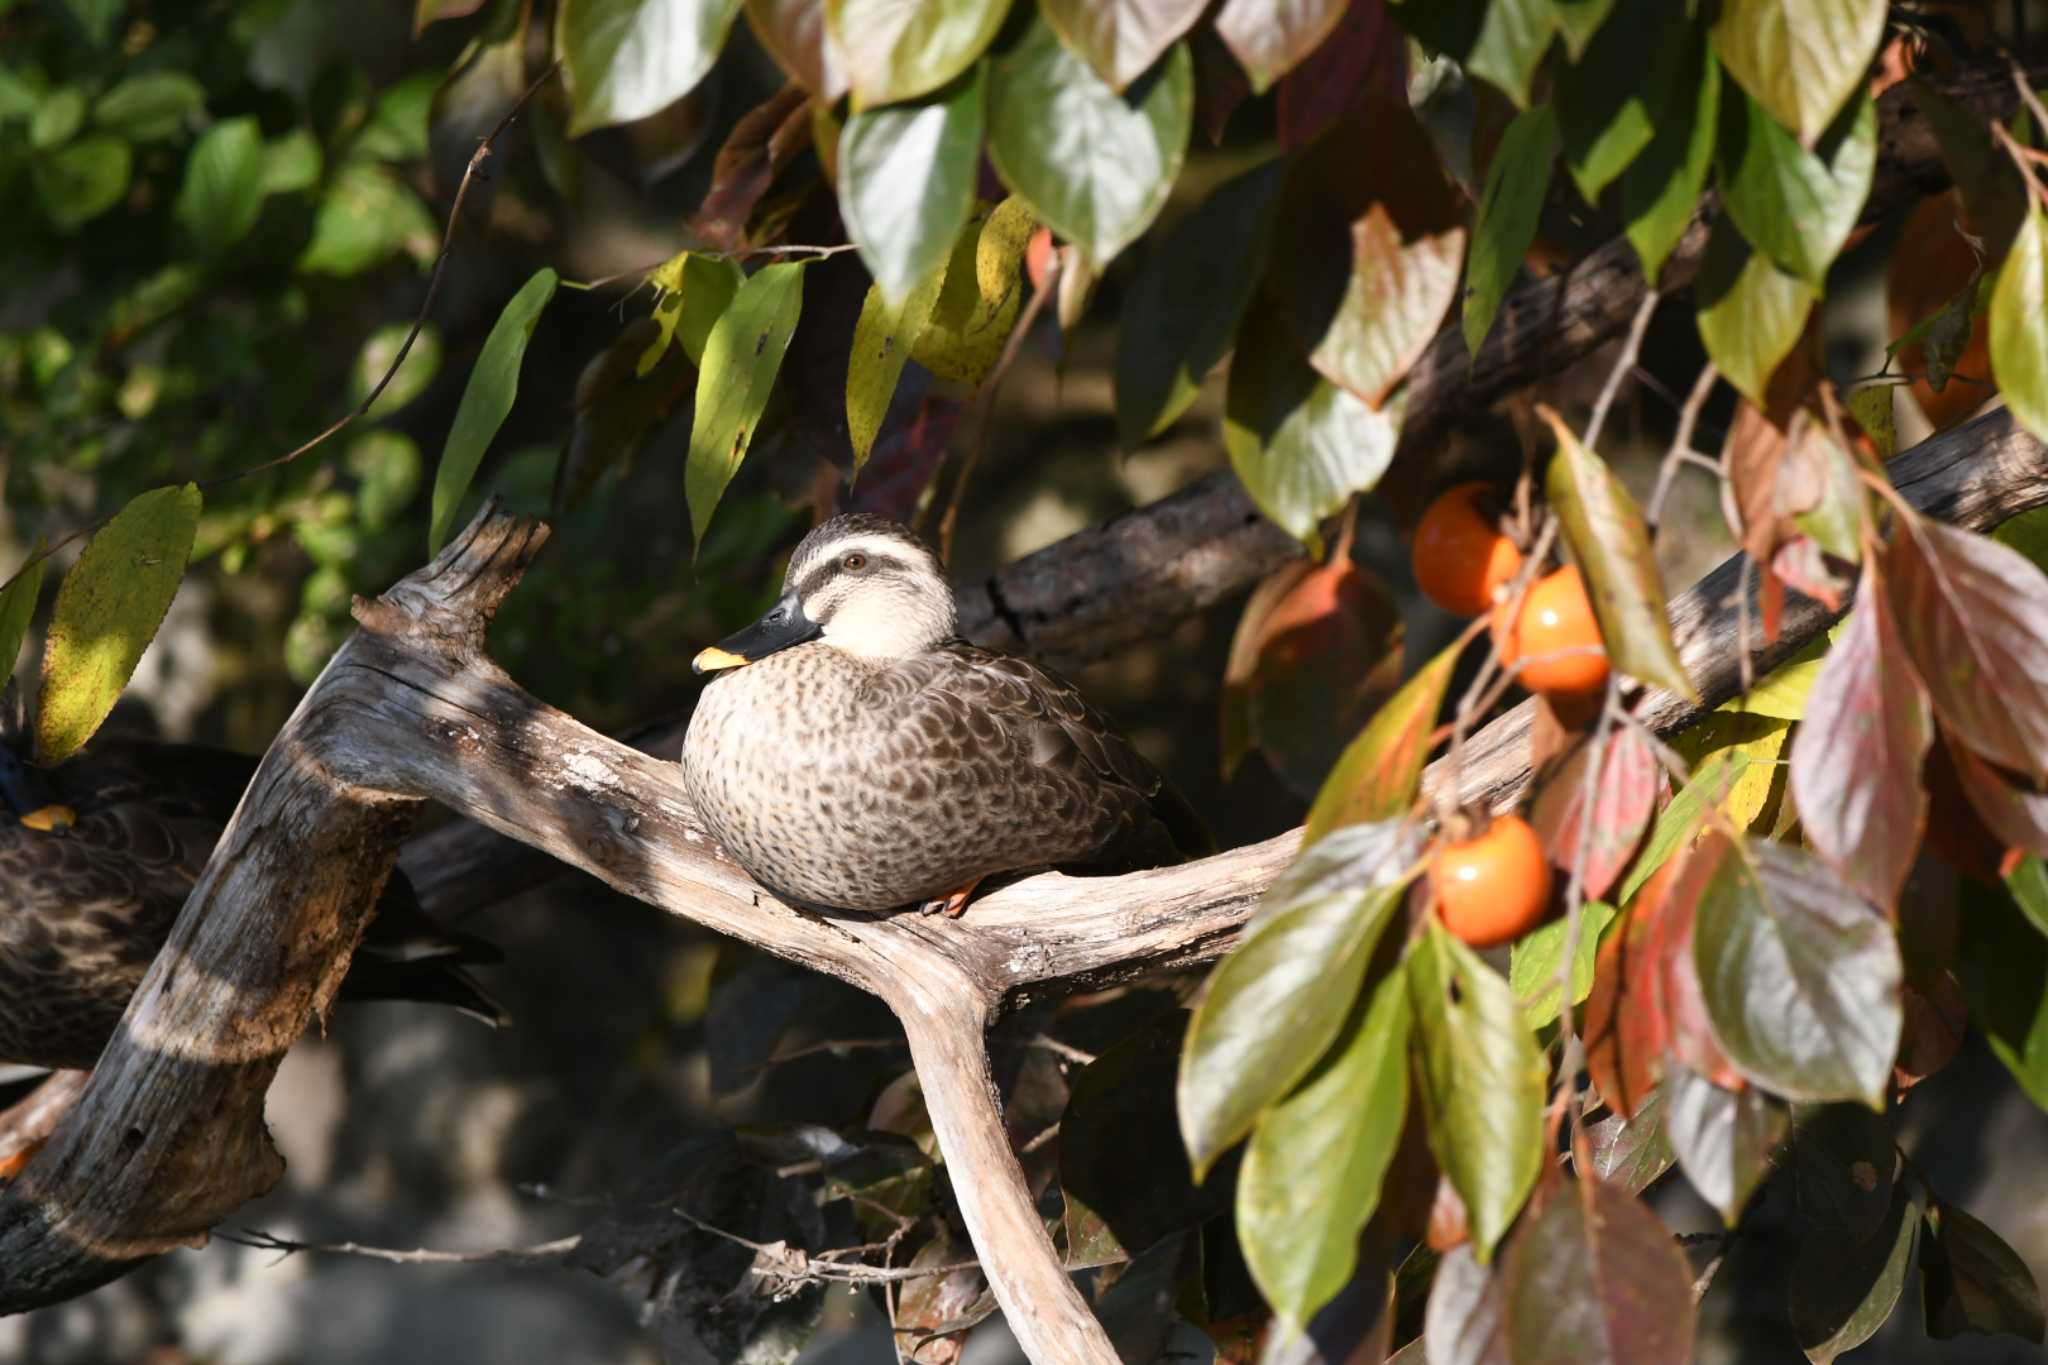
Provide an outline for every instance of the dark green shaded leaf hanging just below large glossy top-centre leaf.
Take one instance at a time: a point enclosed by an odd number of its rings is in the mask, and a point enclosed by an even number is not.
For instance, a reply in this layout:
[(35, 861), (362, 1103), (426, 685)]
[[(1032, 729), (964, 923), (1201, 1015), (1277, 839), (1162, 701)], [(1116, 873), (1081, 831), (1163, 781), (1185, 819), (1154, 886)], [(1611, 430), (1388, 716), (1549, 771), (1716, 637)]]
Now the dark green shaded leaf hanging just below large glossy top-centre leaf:
[(1116, 327), (1116, 438), (1124, 450), (1169, 428), (1231, 338), (1266, 272), (1286, 162), (1217, 186), (1145, 248)]

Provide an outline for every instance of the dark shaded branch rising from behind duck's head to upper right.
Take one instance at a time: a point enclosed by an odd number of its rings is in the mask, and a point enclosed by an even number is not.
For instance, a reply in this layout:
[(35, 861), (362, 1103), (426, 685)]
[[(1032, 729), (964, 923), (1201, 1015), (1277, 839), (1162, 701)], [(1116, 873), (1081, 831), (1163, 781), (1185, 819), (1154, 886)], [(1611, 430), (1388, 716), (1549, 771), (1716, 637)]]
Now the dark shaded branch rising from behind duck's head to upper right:
[[(2032, 76), (2040, 86), (2048, 68)], [(2003, 57), (1942, 74), (1935, 86), (1982, 119), (2003, 119), (2017, 102)], [(1894, 86), (1878, 100), (1878, 170), (1864, 221), (1876, 223), (1948, 184), (1917, 90)], [(1706, 229), (1696, 223), (1665, 262), (1659, 289), (1673, 293), (1692, 282), (1704, 254)], [(1477, 360), (1468, 358), (1454, 317), (1409, 375), (1393, 477), (1430, 481), (1436, 454), (1458, 422), (1593, 354), (1628, 327), (1640, 301), (1634, 250), (1614, 239), (1567, 274), (1509, 293)], [(1223, 471), (1026, 555), (979, 583), (963, 583), (961, 630), (991, 649), (1071, 667), (1169, 634), (1296, 555), (1300, 542), (1260, 516)]]

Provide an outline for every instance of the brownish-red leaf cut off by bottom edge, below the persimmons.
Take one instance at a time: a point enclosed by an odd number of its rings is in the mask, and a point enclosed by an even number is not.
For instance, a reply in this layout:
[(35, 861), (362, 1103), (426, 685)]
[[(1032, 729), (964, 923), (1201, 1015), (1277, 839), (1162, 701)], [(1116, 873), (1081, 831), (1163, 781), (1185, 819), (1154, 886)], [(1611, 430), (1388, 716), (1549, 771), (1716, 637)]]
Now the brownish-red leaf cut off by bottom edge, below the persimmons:
[(1518, 1361), (1692, 1361), (1686, 1252), (1649, 1205), (1591, 1175), (1536, 1189), (1501, 1279)]

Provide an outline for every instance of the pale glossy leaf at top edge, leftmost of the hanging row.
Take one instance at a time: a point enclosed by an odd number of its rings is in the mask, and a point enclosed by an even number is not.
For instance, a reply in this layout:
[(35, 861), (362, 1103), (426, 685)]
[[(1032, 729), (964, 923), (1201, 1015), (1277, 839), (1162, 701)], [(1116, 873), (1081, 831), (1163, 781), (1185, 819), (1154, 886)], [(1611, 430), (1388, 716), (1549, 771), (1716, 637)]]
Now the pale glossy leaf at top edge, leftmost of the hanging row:
[(711, 72), (739, 0), (561, 0), (569, 135), (662, 113)]

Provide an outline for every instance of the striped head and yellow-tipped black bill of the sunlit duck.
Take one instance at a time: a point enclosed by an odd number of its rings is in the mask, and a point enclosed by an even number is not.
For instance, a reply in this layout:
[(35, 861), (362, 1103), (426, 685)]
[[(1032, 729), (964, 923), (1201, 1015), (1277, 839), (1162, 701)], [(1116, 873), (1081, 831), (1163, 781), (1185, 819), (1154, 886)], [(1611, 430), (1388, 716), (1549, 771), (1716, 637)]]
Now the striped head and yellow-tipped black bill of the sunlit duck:
[(758, 622), (696, 655), (698, 673), (823, 641), (862, 659), (907, 659), (954, 630), (952, 585), (901, 522), (836, 516), (797, 546), (782, 596)]

